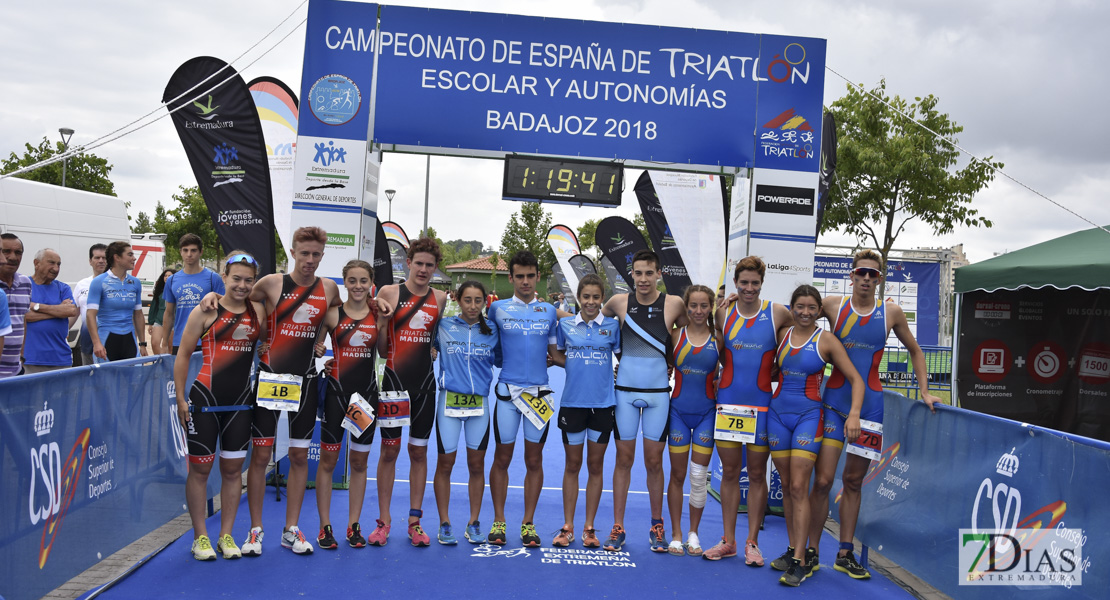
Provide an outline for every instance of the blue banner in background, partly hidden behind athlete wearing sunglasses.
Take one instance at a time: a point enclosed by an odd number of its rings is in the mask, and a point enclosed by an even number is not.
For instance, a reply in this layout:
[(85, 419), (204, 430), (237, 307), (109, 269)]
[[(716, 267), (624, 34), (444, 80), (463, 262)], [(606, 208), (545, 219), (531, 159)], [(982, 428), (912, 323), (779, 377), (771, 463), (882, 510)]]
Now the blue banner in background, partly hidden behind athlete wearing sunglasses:
[[(814, 285), (823, 296), (851, 294), (851, 257), (818, 255), (814, 260)], [(884, 299), (906, 313), (918, 344), (936, 346), (940, 335), (940, 264), (889, 261)], [(890, 345), (897, 345), (891, 337)]]

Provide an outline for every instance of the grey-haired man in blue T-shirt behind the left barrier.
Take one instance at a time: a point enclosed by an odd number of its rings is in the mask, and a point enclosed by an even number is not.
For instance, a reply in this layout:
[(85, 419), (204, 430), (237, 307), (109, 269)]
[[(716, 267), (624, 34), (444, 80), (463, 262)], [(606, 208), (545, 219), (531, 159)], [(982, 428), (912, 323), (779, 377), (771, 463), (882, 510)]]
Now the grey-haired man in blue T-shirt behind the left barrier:
[(34, 255), (31, 277), (31, 309), (27, 313), (27, 342), (23, 344), (23, 372), (44, 373), (73, 366), (67, 336), (69, 319), (80, 314), (73, 304), (73, 291), (58, 281), (62, 258), (52, 248)]

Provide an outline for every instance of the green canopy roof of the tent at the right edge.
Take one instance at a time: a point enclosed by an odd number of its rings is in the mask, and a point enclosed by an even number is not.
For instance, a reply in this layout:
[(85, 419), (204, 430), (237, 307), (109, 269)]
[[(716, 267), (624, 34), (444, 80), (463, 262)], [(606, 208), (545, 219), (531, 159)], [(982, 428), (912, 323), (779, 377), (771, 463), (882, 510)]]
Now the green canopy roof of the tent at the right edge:
[(1110, 233), (1092, 227), (956, 270), (957, 294), (1019, 287), (1110, 288)]

